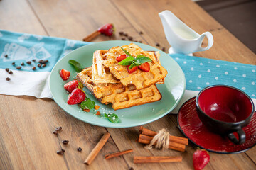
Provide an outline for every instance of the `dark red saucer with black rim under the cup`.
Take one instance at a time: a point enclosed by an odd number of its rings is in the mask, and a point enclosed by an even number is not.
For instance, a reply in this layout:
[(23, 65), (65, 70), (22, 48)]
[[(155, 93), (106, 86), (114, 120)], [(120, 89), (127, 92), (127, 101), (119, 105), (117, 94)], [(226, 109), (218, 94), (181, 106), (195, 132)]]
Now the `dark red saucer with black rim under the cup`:
[(236, 154), (245, 152), (256, 145), (256, 113), (252, 115), (249, 125), (242, 128), (246, 134), (246, 141), (242, 145), (235, 145), (228, 137), (215, 134), (208, 130), (196, 113), (196, 97), (183, 103), (178, 111), (178, 128), (193, 144), (220, 154)]

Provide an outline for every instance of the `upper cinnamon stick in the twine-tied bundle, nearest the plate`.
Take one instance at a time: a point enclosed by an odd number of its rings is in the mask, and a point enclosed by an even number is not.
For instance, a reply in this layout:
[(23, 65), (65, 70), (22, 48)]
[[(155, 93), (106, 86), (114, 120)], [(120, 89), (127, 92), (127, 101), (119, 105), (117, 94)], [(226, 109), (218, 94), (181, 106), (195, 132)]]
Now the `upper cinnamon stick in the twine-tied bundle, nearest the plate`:
[[(142, 126), (139, 128), (139, 132), (142, 135), (147, 135), (147, 136), (151, 136), (151, 137), (154, 137), (157, 134), (157, 132), (143, 128)], [(183, 145), (188, 145), (188, 139), (186, 137), (176, 137), (176, 136), (170, 135), (169, 140), (170, 140), (170, 142), (176, 142), (176, 143), (180, 143)]]

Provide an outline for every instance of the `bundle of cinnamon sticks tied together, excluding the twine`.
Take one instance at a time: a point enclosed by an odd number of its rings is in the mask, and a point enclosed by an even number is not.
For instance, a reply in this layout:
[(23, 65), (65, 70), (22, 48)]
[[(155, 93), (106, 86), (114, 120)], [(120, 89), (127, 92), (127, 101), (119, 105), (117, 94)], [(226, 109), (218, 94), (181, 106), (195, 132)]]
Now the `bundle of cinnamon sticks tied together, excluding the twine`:
[[(149, 129), (143, 128), (142, 126), (139, 129), (139, 138), (137, 142), (143, 144), (149, 144), (157, 132), (151, 131)], [(154, 144), (155, 145), (155, 144)], [(188, 139), (185, 137), (176, 137), (169, 136), (169, 149), (174, 149), (176, 151), (184, 152), (188, 145)]]

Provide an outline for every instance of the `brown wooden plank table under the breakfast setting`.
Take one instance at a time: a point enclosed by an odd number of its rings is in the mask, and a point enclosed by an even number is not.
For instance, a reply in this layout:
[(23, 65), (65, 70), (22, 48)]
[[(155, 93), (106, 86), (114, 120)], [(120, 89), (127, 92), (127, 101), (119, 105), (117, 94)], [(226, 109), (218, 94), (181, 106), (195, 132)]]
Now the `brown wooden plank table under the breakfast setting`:
[[(158, 13), (169, 9), (188, 26), (203, 33), (210, 30), (213, 47), (206, 52), (196, 52), (207, 57), (231, 62), (256, 64), (256, 56), (231, 35), (202, 8), (190, 0), (1, 0), (0, 28), (23, 33), (49, 35), (82, 40), (104, 23), (114, 23), (117, 33), (113, 38), (99, 36), (102, 40), (121, 40), (118, 32), (132, 35), (145, 44), (169, 47)], [(139, 31), (143, 31), (139, 35)], [(58, 136), (55, 127), (62, 126)], [(151, 130), (167, 128), (172, 135), (182, 136), (176, 115), (166, 115), (144, 125)], [(193, 169), (189, 145), (186, 152), (173, 150), (147, 150), (135, 142), (139, 127), (102, 128), (83, 123), (63, 111), (53, 100), (31, 96), (0, 95), (0, 169)], [(90, 166), (83, 161), (95, 147), (100, 137), (110, 132), (111, 138)], [(63, 145), (61, 140), (70, 140)], [(76, 149), (82, 148), (82, 152)], [(63, 156), (56, 154), (65, 149)], [(134, 149), (133, 154), (114, 159), (104, 159), (105, 154)], [(256, 147), (241, 154), (210, 153), (210, 163), (205, 169), (256, 169)], [(134, 155), (182, 155), (179, 163), (133, 164)]]

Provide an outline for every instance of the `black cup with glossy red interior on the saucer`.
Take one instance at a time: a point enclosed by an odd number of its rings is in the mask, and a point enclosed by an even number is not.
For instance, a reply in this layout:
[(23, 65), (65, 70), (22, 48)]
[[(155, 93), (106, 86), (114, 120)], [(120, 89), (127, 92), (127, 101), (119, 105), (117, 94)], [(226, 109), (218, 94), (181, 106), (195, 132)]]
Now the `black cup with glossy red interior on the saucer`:
[(242, 127), (250, 123), (254, 104), (240, 89), (226, 85), (208, 86), (196, 96), (196, 110), (202, 123), (213, 132), (227, 135), (235, 144), (245, 142)]

